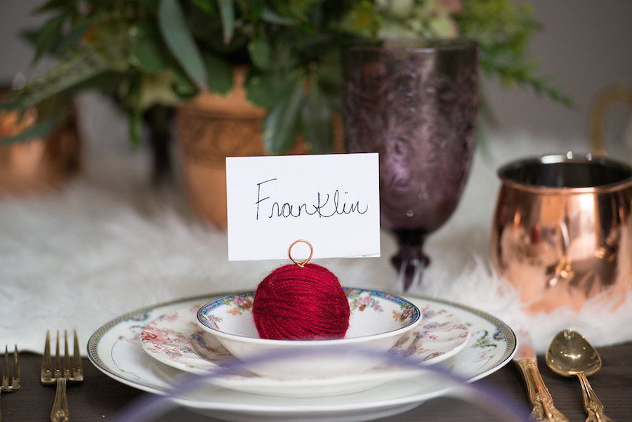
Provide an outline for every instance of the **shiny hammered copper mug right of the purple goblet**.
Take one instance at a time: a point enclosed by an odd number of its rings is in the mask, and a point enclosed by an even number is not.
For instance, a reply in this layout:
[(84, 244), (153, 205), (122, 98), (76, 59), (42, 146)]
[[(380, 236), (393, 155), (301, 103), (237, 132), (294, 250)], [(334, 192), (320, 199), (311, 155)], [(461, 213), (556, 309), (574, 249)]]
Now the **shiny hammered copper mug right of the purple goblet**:
[(492, 263), (528, 312), (621, 302), (632, 281), (632, 168), (572, 153), (498, 171)]

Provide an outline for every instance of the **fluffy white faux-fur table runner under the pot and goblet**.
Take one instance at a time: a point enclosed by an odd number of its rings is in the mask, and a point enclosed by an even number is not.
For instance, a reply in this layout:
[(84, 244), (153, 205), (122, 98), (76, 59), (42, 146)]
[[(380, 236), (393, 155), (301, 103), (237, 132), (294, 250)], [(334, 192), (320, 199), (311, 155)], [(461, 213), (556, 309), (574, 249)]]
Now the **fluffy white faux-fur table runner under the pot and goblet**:
[[(489, 138), (479, 148), (461, 203), (446, 225), (430, 235), (432, 264), (413, 293), (470, 305), (528, 329), (543, 352), (566, 327), (595, 345), (632, 339), (632, 299), (616, 310), (596, 301), (580, 312), (562, 308), (527, 315), (518, 291), (489, 264), (496, 169), (539, 152), (586, 150), (583, 140)], [(178, 163), (176, 150), (176, 164)], [(153, 188), (147, 154), (95, 148), (85, 171), (59, 192), (0, 198), (0, 339), (41, 352), (46, 329), (77, 329), (87, 341), (98, 327), (125, 312), (175, 298), (253, 289), (284, 261), (228, 262), (223, 230), (197, 219), (185, 193)], [(180, 174), (176, 169), (176, 174)], [(381, 236), (381, 258), (319, 260), (345, 286), (395, 288), (389, 258), (395, 242)], [(0, 343), (1, 344), (1, 343)]]

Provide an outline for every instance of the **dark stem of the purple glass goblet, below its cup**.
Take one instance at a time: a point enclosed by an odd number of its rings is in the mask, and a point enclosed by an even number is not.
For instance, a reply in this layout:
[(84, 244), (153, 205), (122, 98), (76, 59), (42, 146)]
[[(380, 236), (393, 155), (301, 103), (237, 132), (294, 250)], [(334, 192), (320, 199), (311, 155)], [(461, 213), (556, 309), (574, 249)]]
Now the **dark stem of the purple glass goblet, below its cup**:
[(417, 242), (404, 242), (402, 236), (397, 234), (397, 243), (400, 249), (390, 258), (390, 263), (397, 270), (398, 291), (412, 291), (421, 283), (423, 269), (430, 263), (430, 258), (423, 253), (423, 237)]

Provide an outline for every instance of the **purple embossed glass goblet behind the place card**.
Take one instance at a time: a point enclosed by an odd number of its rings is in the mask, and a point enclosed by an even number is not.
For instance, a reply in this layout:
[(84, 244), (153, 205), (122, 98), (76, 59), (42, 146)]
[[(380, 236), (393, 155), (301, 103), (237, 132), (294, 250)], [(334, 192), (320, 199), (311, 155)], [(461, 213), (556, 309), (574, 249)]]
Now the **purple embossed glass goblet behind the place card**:
[(430, 259), (426, 237), (452, 216), (468, 178), (478, 114), (478, 46), (470, 41), (353, 44), (343, 53), (348, 152), (380, 154), (380, 220), (399, 250), (402, 291)]

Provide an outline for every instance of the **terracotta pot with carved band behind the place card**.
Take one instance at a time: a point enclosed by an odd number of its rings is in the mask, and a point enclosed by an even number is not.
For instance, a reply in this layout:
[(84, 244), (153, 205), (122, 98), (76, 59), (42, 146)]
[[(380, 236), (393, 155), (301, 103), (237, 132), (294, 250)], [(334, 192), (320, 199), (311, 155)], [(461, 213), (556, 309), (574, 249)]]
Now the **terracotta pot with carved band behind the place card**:
[[(246, 99), (244, 69), (236, 69), (235, 88), (228, 95), (201, 93), (176, 110), (176, 130), (182, 147), (185, 185), (194, 211), (220, 228), (227, 225), (226, 157), (265, 155), (265, 109)], [(342, 122), (336, 125), (341, 149)], [(302, 140), (289, 154), (308, 154)]]

